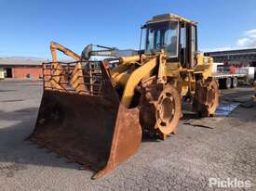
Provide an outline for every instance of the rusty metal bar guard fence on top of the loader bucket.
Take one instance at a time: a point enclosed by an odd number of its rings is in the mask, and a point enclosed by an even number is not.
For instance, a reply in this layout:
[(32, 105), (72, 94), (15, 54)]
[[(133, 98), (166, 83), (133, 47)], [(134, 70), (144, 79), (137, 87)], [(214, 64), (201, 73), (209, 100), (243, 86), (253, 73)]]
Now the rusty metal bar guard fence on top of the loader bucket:
[(101, 96), (99, 61), (43, 63), (44, 88), (81, 95)]

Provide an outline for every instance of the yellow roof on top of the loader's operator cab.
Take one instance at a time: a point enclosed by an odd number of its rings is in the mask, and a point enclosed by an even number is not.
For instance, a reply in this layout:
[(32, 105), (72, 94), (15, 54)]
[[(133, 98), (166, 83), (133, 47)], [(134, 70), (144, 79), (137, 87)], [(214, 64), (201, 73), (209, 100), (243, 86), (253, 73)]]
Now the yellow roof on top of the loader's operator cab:
[(171, 19), (178, 19), (182, 22), (185, 22), (185, 23), (189, 23), (189, 24), (196, 24), (195, 21), (192, 21), (192, 20), (189, 20), (189, 19), (185, 19), (185, 18), (182, 18), (181, 16), (178, 16), (178, 15), (174, 15), (174, 14), (163, 14), (163, 15), (156, 15), (153, 17), (153, 19), (150, 19), (146, 22), (146, 24), (151, 24), (151, 23), (155, 23), (155, 22), (162, 22), (162, 21), (168, 21), (168, 20), (171, 20)]

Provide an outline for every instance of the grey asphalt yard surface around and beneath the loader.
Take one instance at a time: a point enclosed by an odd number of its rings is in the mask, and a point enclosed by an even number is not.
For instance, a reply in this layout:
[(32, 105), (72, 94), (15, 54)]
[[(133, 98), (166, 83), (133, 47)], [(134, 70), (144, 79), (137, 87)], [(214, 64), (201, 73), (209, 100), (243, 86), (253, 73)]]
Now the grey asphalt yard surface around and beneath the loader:
[(240, 104), (228, 116), (193, 121), (195, 115), (184, 112), (178, 134), (166, 141), (144, 139), (134, 157), (91, 180), (93, 172), (24, 141), (34, 129), (42, 83), (0, 82), (0, 190), (222, 190), (210, 187), (209, 178), (249, 181), (249, 188), (227, 190), (255, 190), (252, 91), (223, 90), (226, 108)]

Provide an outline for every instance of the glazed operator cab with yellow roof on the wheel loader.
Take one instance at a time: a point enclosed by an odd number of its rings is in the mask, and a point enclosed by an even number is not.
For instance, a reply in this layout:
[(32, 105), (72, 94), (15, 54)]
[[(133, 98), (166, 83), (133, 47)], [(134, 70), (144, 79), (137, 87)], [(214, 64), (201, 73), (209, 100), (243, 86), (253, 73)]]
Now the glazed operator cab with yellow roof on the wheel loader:
[(155, 16), (146, 22), (145, 54), (155, 54), (164, 49), (168, 62), (180, 62), (184, 68), (196, 63), (196, 23), (177, 15)]

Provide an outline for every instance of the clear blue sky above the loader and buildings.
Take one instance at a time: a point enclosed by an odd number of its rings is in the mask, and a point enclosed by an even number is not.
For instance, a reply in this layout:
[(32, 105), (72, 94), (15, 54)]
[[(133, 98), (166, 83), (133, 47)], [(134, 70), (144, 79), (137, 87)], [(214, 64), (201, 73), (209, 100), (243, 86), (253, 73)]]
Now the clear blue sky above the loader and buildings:
[(140, 26), (169, 12), (199, 22), (202, 51), (256, 46), (255, 0), (0, 0), (0, 57), (50, 58), (50, 41), (138, 48)]

